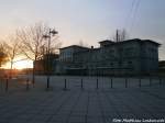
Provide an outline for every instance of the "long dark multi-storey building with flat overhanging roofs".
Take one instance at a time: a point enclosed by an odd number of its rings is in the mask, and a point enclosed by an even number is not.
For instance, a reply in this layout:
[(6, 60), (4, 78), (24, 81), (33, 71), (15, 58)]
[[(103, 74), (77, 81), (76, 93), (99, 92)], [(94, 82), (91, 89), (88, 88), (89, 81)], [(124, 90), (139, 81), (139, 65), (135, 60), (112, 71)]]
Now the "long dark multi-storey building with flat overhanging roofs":
[(151, 40), (99, 42), (100, 47), (72, 45), (59, 49), (55, 66), (61, 75), (148, 75), (158, 70), (158, 46)]

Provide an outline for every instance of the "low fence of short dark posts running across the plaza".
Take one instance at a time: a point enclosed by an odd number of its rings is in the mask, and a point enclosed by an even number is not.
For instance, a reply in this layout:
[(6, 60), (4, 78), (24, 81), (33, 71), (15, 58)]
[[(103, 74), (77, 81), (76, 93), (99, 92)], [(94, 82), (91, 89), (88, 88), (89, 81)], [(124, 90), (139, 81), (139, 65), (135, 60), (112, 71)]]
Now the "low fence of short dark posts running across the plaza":
[(51, 76), (50, 82), (46, 76), (35, 76), (35, 83), (32, 83), (32, 76), (20, 76), (16, 78), (1, 78), (0, 92), (19, 92), (30, 90), (108, 90), (117, 88), (144, 88), (164, 86), (164, 78), (161, 77), (74, 77), (74, 76)]

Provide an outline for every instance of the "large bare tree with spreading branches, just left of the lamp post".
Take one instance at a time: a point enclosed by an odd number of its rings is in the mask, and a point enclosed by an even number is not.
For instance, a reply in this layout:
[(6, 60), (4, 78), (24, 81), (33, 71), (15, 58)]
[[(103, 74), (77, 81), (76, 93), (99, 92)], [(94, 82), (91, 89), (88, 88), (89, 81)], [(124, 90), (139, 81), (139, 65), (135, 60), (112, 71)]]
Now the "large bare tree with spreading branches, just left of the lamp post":
[(51, 53), (56, 53), (61, 46), (61, 42), (57, 36), (52, 38), (51, 47), (48, 48), (47, 41), (43, 38), (44, 34), (47, 34), (50, 27), (44, 23), (36, 23), (32, 26), (28, 26), (16, 31), (19, 41), (22, 42), (22, 53), (31, 60), (33, 60), (33, 85), (35, 82), (35, 65), (34, 62), (41, 59), (45, 51), (50, 49)]

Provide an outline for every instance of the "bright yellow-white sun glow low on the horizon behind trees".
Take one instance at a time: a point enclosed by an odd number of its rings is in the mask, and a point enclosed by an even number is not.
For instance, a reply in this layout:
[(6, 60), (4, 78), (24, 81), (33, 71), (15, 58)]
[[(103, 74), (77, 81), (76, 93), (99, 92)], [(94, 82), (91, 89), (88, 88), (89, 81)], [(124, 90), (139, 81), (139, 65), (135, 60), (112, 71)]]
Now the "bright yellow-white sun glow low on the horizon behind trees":
[(20, 60), (13, 64), (14, 69), (33, 68), (33, 63), (29, 60)]

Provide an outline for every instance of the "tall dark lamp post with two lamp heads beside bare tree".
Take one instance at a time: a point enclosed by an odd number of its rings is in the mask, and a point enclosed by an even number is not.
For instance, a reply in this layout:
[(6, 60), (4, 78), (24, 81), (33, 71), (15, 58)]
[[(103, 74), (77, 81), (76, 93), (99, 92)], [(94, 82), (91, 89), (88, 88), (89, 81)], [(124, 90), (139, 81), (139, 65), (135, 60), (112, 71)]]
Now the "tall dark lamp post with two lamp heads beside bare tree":
[(48, 45), (47, 45), (47, 53), (46, 53), (46, 55), (47, 55), (47, 62), (46, 62), (46, 67), (47, 67), (47, 69), (46, 69), (46, 75), (47, 75), (47, 89), (50, 88), (50, 47), (51, 47), (51, 37), (52, 36), (55, 36), (56, 34), (58, 34), (58, 32), (57, 31), (55, 31), (55, 30), (52, 30), (52, 29), (50, 29), (50, 31), (48, 31), (48, 34), (45, 34), (45, 35), (43, 35), (43, 37), (45, 38), (45, 40), (47, 40), (48, 38)]

